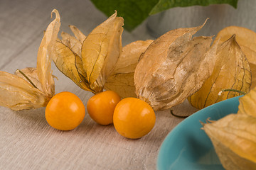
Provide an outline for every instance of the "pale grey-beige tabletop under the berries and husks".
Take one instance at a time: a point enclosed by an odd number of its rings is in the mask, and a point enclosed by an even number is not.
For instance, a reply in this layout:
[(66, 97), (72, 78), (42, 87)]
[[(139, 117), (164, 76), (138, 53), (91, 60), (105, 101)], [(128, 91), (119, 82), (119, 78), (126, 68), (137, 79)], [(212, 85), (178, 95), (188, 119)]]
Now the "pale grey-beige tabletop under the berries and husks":
[[(52, 20), (50, 12), (53, 8), (60, 12), (60, 31), (68, 33), (68, 25), (75, 25), (87, 35), (107, 18), (88, 0), (1, 0), (0, 70), (14, 73), (16, 69), (36, 67), (38, 47), (43, 30)], [(184, 26), (190, 24), (184, 23)], [(124, 30), (122, 43), (127, 45), (134, 40), (152, 38), (145, 21), (132, 33)], [(79, 89), (54, 64), (53, 74), (58, 77), (55, 80), (56, 93), (73, 92), (86, 105), (92, 96), (90, 92)], [(172, 109), (180, 115), (197, 111), (187, 101)], [(139, 140), (128, 140), (120, 136), (113, 125), (97, 125), (87, 113), (75, 130), (55, 130), (46, 122), (44, 111), (45, 108), (11, 111), (0, 107), (1, 170), (156, 169), (161, 142), (183, 120), (174, 118), (169, 110), (157, 112), (156, 125), (149, 135)]]

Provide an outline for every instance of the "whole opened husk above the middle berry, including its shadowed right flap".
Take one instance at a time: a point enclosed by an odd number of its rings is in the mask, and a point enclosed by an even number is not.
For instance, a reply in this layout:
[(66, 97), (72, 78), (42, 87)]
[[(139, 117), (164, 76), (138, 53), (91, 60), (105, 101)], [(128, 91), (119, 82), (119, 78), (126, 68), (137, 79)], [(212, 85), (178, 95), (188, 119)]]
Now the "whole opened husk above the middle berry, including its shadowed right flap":
[(134, 69), (153, 40), (138, 40), (122, 47), (123, 25), (123, 18), (115, 12), (87, 37), (70, 26), (75, 36), (61, 33), (56, 45), (58, 55), (53, 58), (55, 65), (85, 91), (97, 94), (107, 89), (122, 98), (136, 97)]

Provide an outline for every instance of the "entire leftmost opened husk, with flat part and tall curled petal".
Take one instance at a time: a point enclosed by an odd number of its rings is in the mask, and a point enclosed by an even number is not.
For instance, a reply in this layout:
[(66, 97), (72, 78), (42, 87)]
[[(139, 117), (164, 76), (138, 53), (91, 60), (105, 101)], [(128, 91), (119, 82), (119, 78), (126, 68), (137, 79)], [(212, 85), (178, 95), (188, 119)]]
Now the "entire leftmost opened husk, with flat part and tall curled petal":
[(46, 106), (55, 94), (50, 62), (55, 55), (55, 41), (60, 28), (60, 15), (49, 24), (38, 49), (37, 67), (18, 69), (15, 74), (0, 71), (0, 106), (14, 111)]

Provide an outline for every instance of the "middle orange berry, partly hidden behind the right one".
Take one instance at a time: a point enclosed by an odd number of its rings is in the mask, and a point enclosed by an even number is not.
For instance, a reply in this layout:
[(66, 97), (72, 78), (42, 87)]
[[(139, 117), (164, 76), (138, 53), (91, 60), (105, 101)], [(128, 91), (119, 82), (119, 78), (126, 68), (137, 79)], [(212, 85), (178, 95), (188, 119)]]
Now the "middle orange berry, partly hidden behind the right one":
[(87, 101), (87, 111), (92, 120), (100, 125), (113, 123), (114, 108), (121, 101), (114, 91), (103, 91), (95, 94)]

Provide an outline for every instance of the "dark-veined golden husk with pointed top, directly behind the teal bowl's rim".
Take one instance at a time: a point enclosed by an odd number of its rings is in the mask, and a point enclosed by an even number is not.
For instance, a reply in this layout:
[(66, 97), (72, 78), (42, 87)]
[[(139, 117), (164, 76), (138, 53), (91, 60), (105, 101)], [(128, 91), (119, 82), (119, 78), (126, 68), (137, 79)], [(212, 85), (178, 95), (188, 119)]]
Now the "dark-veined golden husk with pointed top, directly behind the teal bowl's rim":
[[(217, 44), (217, 43), (215, 43)], [(249, 63), (235, 41), (235, 35), (218, 47), (217, 60), (213, 74), (206, 80), (196, 94), (188, 101), (196, 108), (205, 108), (227, 98), (240, 96), (238, 92), (228, 91), (219, 95), (223, 89), (249, 92), (251, 72)]]

